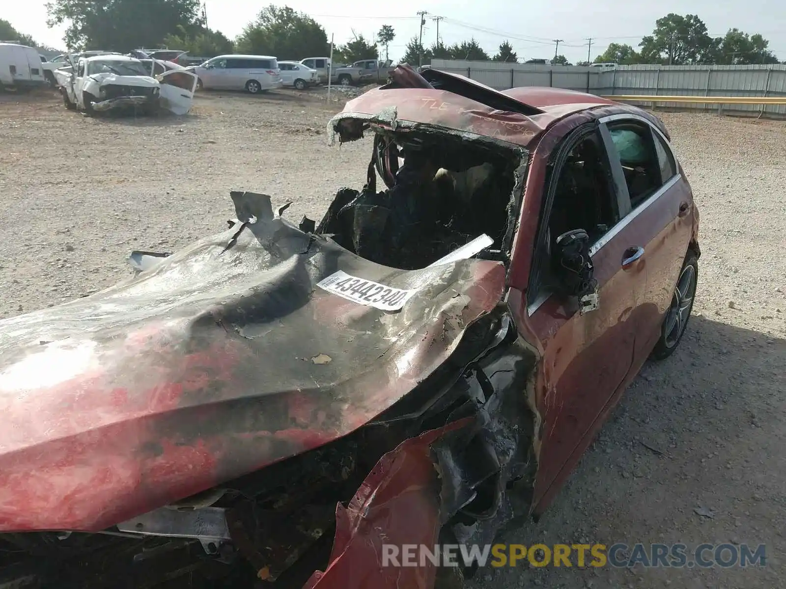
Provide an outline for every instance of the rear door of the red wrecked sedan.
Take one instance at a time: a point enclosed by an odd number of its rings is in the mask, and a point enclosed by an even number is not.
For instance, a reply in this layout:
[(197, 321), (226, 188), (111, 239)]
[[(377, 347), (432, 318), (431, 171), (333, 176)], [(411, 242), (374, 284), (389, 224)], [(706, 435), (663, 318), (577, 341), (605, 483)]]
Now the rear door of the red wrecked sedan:
[(630, 217), (638, 235), (631, 246), (641, 247), (647, 267), (644, 301), (638, 313), (634, 370), (652, 352), (692, 235), (693, 206), (688, 182), (678, 170), (666, 137), (648, 119), (620, 114), (601, 119), (612, 146), (609, 158), (619, 167), (630, 201)]

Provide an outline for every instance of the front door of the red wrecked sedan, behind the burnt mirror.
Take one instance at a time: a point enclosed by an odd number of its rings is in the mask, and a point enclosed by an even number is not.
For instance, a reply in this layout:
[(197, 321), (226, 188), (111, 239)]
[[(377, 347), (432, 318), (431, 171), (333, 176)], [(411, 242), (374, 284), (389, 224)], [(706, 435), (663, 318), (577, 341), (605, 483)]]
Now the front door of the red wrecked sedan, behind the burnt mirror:
[[(527, 315), (542, 348), (538, 372), (542, 439), (534, 505), (541, 512), (570, 472), (630, 375), (646, 267), (632, 254), (641, 234), (608, 130), (595, 123), (564, 138), (551, 158), (527, 288)], [(556, 237), (589, 234), (597, 309), (579, 313), (575, 297), (557, 294)]]

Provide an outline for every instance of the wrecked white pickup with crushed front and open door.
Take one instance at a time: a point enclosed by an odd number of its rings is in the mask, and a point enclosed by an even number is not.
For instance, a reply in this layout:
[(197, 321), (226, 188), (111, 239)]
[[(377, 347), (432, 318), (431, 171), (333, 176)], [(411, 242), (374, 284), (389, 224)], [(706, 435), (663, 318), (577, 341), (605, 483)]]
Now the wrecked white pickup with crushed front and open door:
[(196, 76), (185, 70), (163, 71), (156, 78), (140, 60), (123, 55), (70, 59), (54, 72), (65, 108), (87, 114), (133, 108), (156, 115), (166, 108), (176, 115), (191, 109)]

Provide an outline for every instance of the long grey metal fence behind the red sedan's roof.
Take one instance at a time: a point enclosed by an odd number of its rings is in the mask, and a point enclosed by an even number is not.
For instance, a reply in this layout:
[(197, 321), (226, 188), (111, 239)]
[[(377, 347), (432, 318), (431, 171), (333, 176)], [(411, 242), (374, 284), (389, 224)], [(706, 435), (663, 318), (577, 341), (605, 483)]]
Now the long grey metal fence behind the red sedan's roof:
[[(499, 61), (432, 60), (432, 68), (465, 75), (497, 90), (551, 86), (603, 96), (786, 96), (786, 65), (619, 65), (613, 70), (580, 66), (507, 64)], [(657, 106), (668, 105), (658, 102)], [(673, 105), (673, 104), (672, 104)], [(642, 103), (651, 107), (652, 103)], [(706, 110), (711, 104), (680, 104)], [(786, 105), (733, 104), (725, 112), (786, 115)]]

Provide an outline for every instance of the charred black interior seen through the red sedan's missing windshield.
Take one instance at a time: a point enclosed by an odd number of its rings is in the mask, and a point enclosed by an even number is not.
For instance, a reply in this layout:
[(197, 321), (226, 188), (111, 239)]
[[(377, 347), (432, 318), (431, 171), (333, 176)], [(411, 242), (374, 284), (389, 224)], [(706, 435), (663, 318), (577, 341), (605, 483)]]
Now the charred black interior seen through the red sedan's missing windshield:
[(370, 128), (365, 186), (342, 188), (317, 233), (371, 262), (406, 270), (487, 234), (494, 244), (476, 257), (506, 261), (520, 151), (446, 130)]

